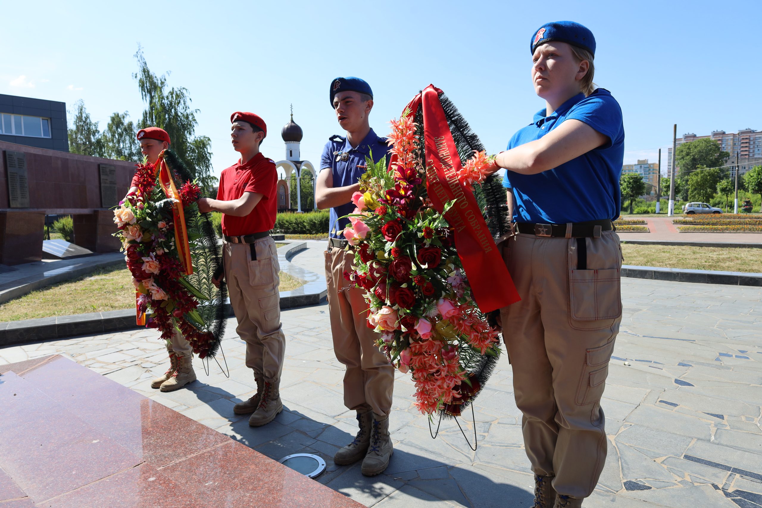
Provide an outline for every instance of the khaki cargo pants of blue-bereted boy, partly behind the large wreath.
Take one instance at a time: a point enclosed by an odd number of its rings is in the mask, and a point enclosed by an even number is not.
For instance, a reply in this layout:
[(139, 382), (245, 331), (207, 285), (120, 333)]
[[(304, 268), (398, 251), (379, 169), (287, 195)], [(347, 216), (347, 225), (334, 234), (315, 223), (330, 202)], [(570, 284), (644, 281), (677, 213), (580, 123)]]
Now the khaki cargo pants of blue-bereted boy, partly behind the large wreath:
[(367, 327), (368, 304), (362, 289), (344, 279), (354, 264), (354, 252), (328, 247), (325, 283), (336, 359), (347, 366), (344, 405), (353, 411), (373, 410), (379, 416), (392, 411), (394, 367), (376, 347), (378, 334)]

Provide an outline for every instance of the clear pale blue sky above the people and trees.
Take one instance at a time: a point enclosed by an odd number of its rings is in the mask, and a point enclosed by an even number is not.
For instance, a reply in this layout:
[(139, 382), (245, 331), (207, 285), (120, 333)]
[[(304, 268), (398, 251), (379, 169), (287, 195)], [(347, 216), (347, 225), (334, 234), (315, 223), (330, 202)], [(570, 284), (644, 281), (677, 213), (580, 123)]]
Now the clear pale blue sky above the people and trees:
[[(464, 6), (466, 5), (466, 6)], [(133, 57), (171, 72), (188, 89), (197, 134), (212, 139), (219, 174), (236, 160), (229, 117), (266, 120), (262, 151), (284, 156), (280, 128), (304, 130), (302, 157), (319, 161), (341, 133), (328, 104), (339, 75), (373, 88), (371, 126), (386, 122), (434, 83), (456, 104), (488, 152), (544, 106), (530, 83), (529, 40), (546, 21), (571, 19), (597, 39), (597, 85), (622, 105), (625, 163), (656, 160), (677, 135), (762, 129), (754, 25), (760, 2), (5, 2), (0, 93), (78, 99), (94, 120), (142, 111)], [(755, 42), (756, 41), (756, 42)]]

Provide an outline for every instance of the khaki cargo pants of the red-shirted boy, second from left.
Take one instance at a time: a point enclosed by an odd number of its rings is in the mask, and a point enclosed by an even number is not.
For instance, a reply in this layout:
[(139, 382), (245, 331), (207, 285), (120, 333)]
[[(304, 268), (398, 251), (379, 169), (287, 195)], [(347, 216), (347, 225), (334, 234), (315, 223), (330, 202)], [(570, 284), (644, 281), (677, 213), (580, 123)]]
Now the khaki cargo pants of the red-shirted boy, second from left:
[(246, 366), (255, 378), (272, 383), (280, 380), (286, 352), (280, 327), (280, 264), (272, 237), (253, 246), (256, 260), (251, 260), (251, 244), (223, 244), (225, 279), (239, 324), (235, 331), (246, 343)]

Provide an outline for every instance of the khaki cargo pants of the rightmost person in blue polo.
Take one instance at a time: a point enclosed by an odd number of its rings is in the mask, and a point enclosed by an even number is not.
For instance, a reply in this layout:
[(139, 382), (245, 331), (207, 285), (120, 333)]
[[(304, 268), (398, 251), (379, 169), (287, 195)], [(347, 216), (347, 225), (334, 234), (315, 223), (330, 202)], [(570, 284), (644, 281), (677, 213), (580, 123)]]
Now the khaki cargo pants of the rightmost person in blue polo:
[(514, 396), (532, 471), (555, 476), (556, 492), (588, 497), (604, 468), (600, 398), (622, 321), (622, 252), (615, 232), (585, 238), (519, 234), (503, 256), (521, 301), (501, 309)]

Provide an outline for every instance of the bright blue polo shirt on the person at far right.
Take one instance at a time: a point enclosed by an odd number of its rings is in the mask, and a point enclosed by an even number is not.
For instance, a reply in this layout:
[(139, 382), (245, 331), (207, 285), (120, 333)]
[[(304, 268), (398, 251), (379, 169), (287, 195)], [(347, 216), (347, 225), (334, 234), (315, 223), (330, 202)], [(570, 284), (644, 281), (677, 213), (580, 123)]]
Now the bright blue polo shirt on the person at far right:
[(508, 142), (510, 150), (540, 139), (564, 120), (579, 120), (609, 141), (557, 168), (539, 174), (506, 171), (503, 186), (514, 193), (514, 221), (565, 224), (620, 215), (620, 176), (624, 158), (622, 109), (611, 92), (597, 88), (571, 97), (553, 113), (534, 115)]

